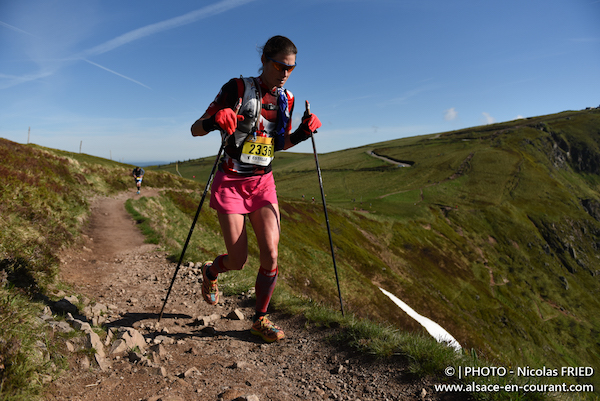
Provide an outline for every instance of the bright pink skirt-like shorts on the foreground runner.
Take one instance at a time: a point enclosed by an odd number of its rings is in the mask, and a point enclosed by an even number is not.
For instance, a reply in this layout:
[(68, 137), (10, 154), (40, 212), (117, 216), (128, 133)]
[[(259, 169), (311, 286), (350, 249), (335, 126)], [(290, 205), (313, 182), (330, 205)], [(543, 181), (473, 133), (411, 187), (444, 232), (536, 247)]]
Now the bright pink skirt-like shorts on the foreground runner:
[(273, 172), (234, 176), (217, 171), (211, 186), (210, 207), (223, 214), (247, 214), (277, 204)]

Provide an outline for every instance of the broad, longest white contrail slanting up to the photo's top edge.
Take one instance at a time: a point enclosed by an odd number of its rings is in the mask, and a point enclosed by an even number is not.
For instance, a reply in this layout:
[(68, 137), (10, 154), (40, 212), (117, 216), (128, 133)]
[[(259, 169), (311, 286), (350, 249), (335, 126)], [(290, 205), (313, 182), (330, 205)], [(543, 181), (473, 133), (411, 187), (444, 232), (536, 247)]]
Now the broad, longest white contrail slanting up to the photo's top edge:
[(199, 10), (190, 11), (187, 14), (179, 17), (171, 18), (165, 21), (157, 22), (154, 24), (146, 25), (144, 27), (134, 29), (133, 31), (127, 32), (121, 36), (104, 42), (98, 46), (92, 47), (83, 53), (83, 57), (96, 56), (99, 54), (106, 53), (114, 50), (117, 47), (123, 46), (127, 43), (136, 41), (146, 36), (154, 35), (155, 33), (166, 31), (169, 29), (177, 28), (183, 25), (190, 24), (200, 19), (220, 14), (228, 11), (232, 8), (239, 7), (246, 3), (250, 3), (254, 0), (224, 0), (219, 3), (201, 8)]

